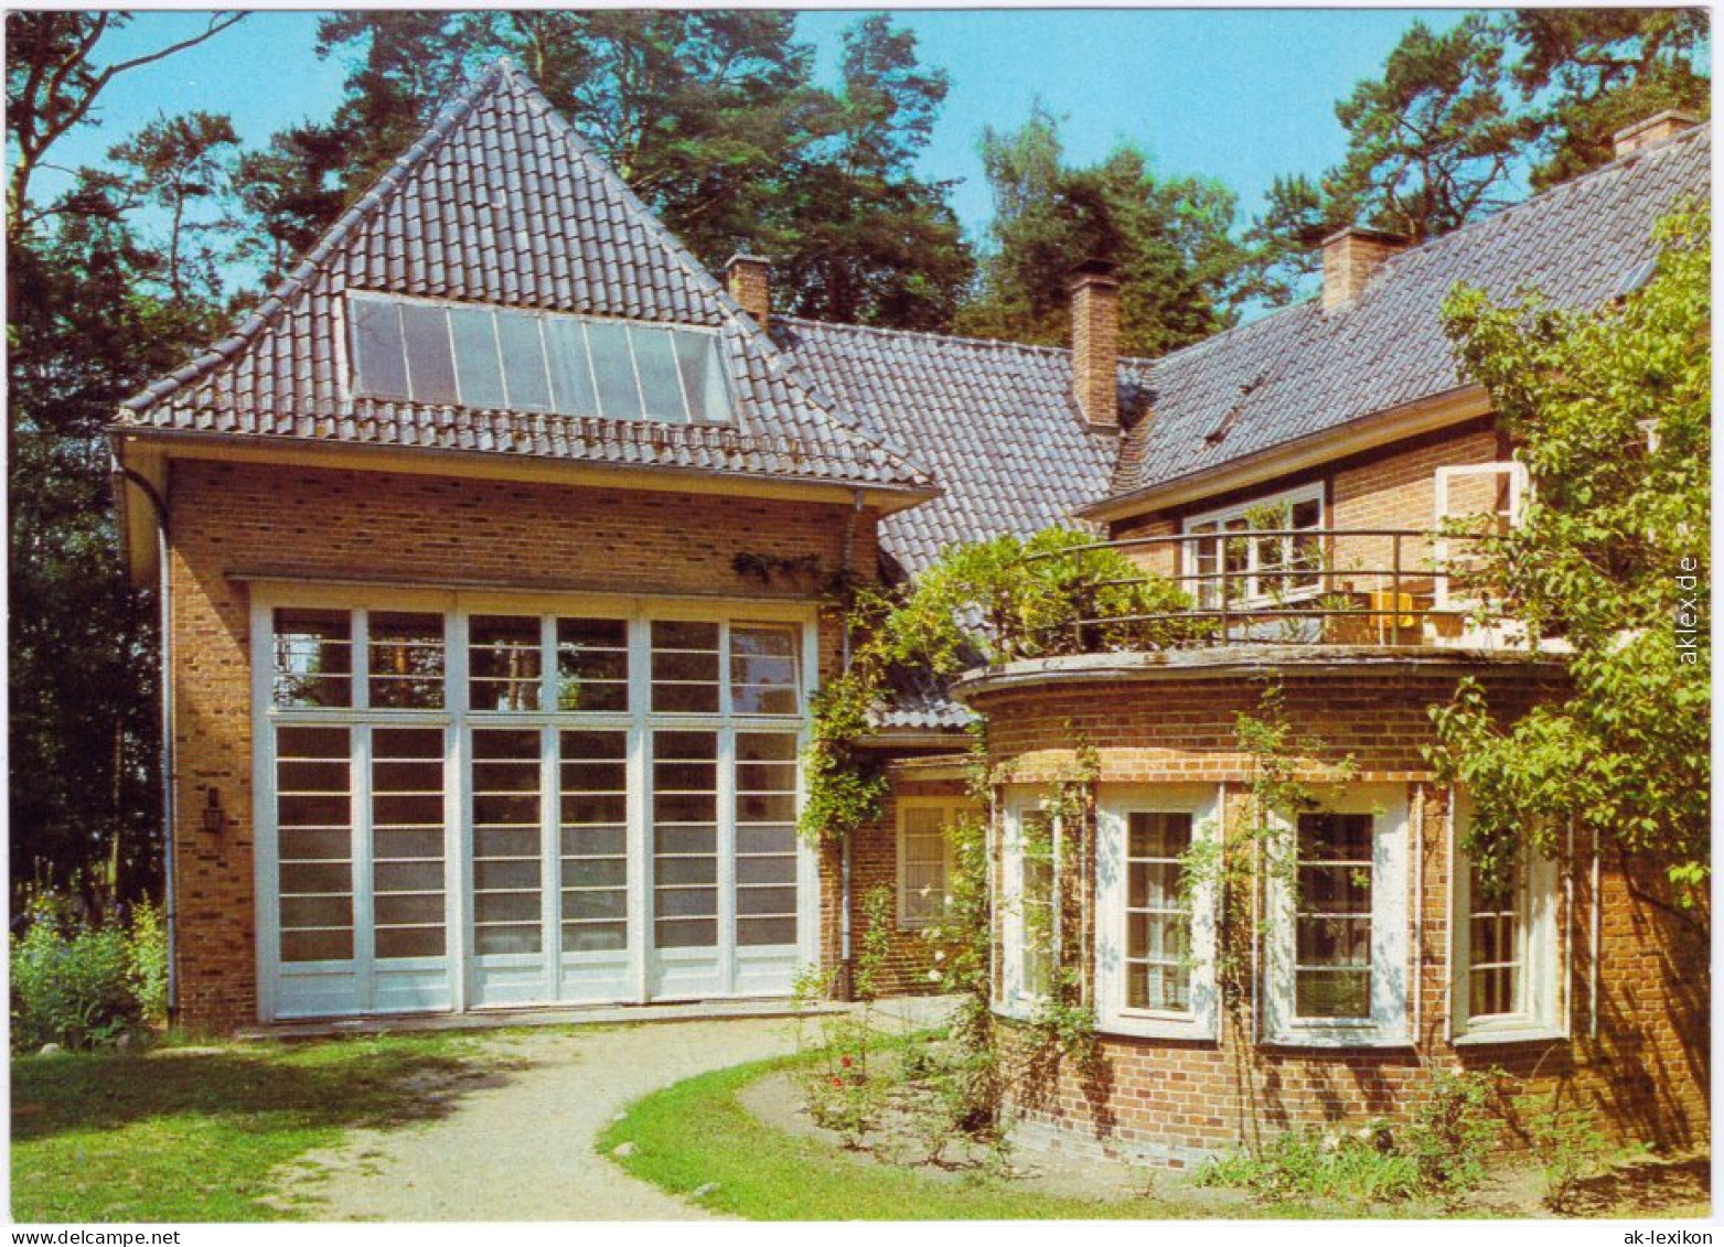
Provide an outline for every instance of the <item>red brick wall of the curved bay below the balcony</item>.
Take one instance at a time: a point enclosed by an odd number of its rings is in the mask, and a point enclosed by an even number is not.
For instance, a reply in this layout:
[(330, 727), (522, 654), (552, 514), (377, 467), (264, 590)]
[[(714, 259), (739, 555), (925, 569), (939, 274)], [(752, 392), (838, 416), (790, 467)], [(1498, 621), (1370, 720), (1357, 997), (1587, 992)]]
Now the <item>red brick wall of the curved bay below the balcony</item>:
[[(1481, 677), (1491, 704), (1505, 715), (1540, 696), (1540, 680), (1526, 670), (1498, 668)], [(1572, 899), (1562, 901), (1558, 915), (1569, 954), (1569, 1039), (1490, 1047), (1448, 1042), (1448, 792), (1434, 782), (1419, 746), (1429, 741), (1426, 706), (1452, 691), (1453, 677), (1284, 673), (1288, 718), (1321, 737), (1324, 761), (1352, 754), (1360, 782), (1407, 784), (1410, 834), (1422, 847), (1422, 859), (1409, 863), (1407, 911), (1422, 915), (1409, 952), (1412, 1045), (1262, 1045), (1253, 1042), (1253, 1001), (1246, 997), (1222, 1008), (1219, 1042), (1103, 1035), (1100, 1061), (1088, 1073), (1065, 1061), (1048, 1075), (1026, 1061), (1014, 1102), (1033, 1128), (1052, 1130), (1065, 1145), (1179, 1164), (1293, 1125), (1353, 1126), (1377, 1116), (1405, 1121), (1427, 1094), (1431, 1071), (1502, 1068), (1515, 1075), (1503, 1090), (1514, 1087), (1541, 1104), (1560, 1094), (1564, 1104), (1593, 1109), (1598, 1125), (1624, 1142), (1707, 1140), (1708, 947), (1655, 899), (1634, 896), (1657, 897), (1657, 873), (1643, 866), (1603, 863), (1595, 1001), (1588, 846), (1577, 846), (1564, 863), (1564, 877), (1572, 880)], [(1227, 680), (1048, 682), (979, 694), (974, 704), (990, 717), (995, 763), (1010, 768), (1010, 780), (1060, 773), (1076, 761), (1072, 746), (1081, 735), (1100, 753), (1102, 784), (1215, 780), (1227, 784), (1234, 803), (1248, 780), (1248, 758), (1234, 744), (1234, 715), (1253, 710), (1257, 699), (1259, 689), (1241, 673)], [(1081, 892), (1093, 894), (1088, 882)], [(1028, 1032), (1022, 1042), (1028, 1045)], [(1505, 1142), (1524, 1142), (1524, 1104), (1505, 1107), (1512, 1109)]]

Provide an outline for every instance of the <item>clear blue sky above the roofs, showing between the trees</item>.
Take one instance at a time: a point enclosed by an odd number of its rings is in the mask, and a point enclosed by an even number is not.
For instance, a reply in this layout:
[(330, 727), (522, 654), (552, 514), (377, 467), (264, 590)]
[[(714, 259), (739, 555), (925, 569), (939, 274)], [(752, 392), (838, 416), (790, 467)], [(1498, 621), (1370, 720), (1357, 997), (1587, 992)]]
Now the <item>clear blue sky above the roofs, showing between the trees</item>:
[[(831, 79), (840, 33), (857, 10), (810, 10), (798, 33)], [(952, 76), (928, 177), (959, 179), (953, 203), (979, 238), (990, 214), (978, 141), (984, 126), (1021, 124), (1038, 96), (1062, 119), (1067, 155), (1105, 157), (1122, 141), (1164, 174), (1219, 177), (1240, 193), (1241, 224), (1271, 177), (1321, 174), (1345, 148), (1334, 102), (1383, 62), (1415, 19), (1448, 28), (1462, 12), (1415, 9), (1014, 9), (895, 10), (915, 31), (924, 64)], [(203, 17), (140, 12), (103, 60), (198, 29)], [(128, 74), (103, 95), (97, 131), (69, 136), (50, 160), (100, 160), (157, 112), (233, 115), (247, 145), (303, 117), (322, 119), (341, 93), (340, 57), (314, 53), (317, 14), (257, 12), (207, 45)], [(50, 191), (45, 177), (40, 189)]]

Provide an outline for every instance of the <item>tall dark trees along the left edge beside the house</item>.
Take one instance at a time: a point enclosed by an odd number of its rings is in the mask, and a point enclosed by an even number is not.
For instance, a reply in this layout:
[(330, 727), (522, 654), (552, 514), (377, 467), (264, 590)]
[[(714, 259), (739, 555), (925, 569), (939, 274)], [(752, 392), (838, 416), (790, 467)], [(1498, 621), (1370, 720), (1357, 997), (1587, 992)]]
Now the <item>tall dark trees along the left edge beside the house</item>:
[[(117, 72), (103, 14), (10, 14), (7, 138), (43, 164), (91, 124)], [(107, 19), (107, 21), (103, 21)], [(231, 22), (228, 22), (231, 24)], [(210, 29), (219, 29), (212, 19)], [(191, 40), (176, 47), (190, 47)], [(205, 200), (224, 193), (226, 119), (162, 119), (50, 200), (14, 165), (7, 231), (10, 854), (22, 884), (102, 903), (159, 872), (157, 679), (150, 594), (121, 563), (105, 425), (121, 400), (216, 336), (224, 308)], [(162, 217), (160, 238), (134, 224)], [(219, 215), (219, 212), (216, 214)]]

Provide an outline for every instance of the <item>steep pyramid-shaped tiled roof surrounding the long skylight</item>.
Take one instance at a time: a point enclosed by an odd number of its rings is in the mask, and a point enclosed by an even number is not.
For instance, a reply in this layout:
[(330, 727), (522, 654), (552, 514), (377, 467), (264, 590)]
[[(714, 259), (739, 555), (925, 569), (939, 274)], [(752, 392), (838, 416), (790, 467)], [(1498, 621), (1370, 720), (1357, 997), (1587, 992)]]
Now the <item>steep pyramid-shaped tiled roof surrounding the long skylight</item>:
[[(345, 375), (348, 289), (715, 329), (733, 422), (355, 398)], [(440, 114), (238, 332), (129, 400), (121, 422), (929, 487), (876, 429), (810, 391), (507, 60)]]

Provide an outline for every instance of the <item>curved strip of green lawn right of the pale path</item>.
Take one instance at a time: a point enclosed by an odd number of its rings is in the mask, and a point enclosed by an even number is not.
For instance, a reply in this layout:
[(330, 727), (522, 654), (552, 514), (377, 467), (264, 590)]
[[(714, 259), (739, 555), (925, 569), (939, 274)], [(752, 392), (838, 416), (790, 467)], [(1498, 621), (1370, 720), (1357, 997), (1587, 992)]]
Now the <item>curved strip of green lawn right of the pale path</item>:
[[(971, 1219), (1146, 1219), (1190, 1216), (1310, 1216), (1264, 1200), (1226, 1211), (1186, 1206), (1153, 1194), (1129, 1199), (1055, 1197), (1014, 1188), (1009, 1178), (936, 1178), (896, 1164), (871, 1164), (812, 1138), (795, 1138), (759, 1121), (736, 1092), (807, 1058), (778, 1058), (717, 1070), (653, 1092), (629, 1106), (598, 1138), (609, 1154), (634, 1144), (617, 1163), (636, 1178), (714, 1213), (755, 1221), (971, 1221)], [(1145, 1187), (1152, 1175), (1145, 1173)]]

